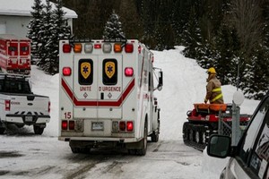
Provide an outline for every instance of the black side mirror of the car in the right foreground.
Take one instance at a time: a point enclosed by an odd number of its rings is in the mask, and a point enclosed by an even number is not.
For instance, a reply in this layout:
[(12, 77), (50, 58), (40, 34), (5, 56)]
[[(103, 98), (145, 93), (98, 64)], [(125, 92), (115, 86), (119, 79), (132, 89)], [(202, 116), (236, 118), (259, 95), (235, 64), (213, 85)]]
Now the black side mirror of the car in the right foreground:
[(215, 158), (226, 158), (230, 156), (230, 137), (224, 135), (212, 135), (209, 138), (207, 154)]

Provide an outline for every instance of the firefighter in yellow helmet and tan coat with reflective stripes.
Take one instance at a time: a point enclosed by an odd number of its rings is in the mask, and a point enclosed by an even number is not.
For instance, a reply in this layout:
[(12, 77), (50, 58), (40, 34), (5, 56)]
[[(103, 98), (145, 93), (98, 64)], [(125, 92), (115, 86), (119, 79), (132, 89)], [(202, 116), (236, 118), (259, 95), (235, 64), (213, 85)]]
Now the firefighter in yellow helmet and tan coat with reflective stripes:
[(204, 98), (204, 103), (209, 101), (210, 104), (223, 104), (223, 96), (221, 92), (221, 81), (216, 77), (217, 72), (213, 67), (209, 68), (206, 85), (206, 96)]

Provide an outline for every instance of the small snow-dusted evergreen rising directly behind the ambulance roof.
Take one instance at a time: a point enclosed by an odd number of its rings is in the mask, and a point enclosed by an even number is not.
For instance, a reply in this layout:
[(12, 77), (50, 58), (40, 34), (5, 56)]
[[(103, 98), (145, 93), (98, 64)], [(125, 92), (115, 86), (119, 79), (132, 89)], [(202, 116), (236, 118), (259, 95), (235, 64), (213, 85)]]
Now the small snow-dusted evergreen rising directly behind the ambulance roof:
[(123, 39), (125, 34), (122, 31), (121, 22), (119, 21), (119, 16), (113, 10), (113, 13), (110, 15), (105, 30), (103, 32), (104, 39)]

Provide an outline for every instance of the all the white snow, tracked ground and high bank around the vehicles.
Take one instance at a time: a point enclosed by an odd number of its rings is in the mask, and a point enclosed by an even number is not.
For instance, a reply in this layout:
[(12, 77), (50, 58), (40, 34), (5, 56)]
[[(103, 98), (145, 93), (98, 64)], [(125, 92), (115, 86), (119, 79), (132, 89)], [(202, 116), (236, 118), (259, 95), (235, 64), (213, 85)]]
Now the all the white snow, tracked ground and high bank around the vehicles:
[[(153, 51), (155, 66), (164, 72), (163, 89), (156, 92), (161, 135), (158, 143), (149, 143), (145, 157), (117, 152), (100, 157), (98, 151), (73, 154), (67, 142), (57, 141), (59, 76), (47, 75), (33, 65), (33, 92), (50, 97), (51, 121), (41, 136), (34, 135), (31, 127), (0, 136), (0, 178), (218, 178), (227, 158), (210, 158), (182, 141), (187, 110), (204, 101), (207, 77), (194, 59), (181, 55), (182, 49)], [(225, 102), (230, 103), (236, 88), (225, 85), (222, 91)], [(241, 113), (251, 115), (258, 102), (245, 99)]]

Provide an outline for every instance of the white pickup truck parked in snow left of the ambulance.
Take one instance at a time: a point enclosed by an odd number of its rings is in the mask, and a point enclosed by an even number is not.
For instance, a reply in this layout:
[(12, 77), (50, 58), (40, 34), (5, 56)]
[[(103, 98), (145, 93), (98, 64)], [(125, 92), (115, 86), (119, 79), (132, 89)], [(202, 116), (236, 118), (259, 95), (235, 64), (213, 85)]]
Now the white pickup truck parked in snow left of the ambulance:
[(0, 134), (9, 124), (33, 125), (34, 132), (42, 134), (49, 112), (49, 98), (33, 94), (27, 76), (0, 73)]

